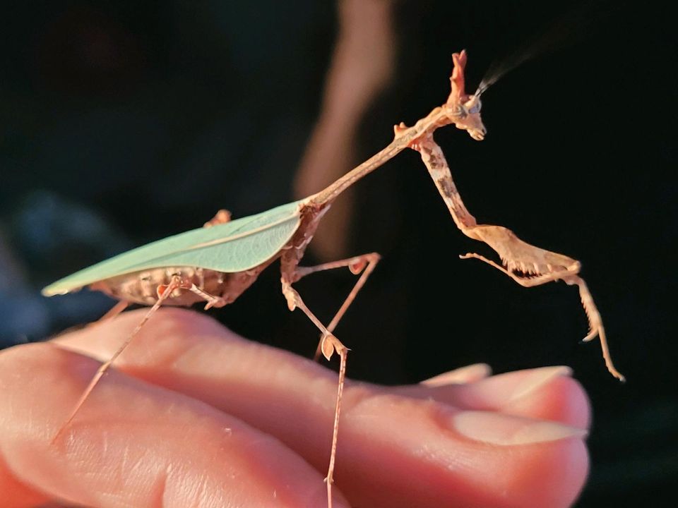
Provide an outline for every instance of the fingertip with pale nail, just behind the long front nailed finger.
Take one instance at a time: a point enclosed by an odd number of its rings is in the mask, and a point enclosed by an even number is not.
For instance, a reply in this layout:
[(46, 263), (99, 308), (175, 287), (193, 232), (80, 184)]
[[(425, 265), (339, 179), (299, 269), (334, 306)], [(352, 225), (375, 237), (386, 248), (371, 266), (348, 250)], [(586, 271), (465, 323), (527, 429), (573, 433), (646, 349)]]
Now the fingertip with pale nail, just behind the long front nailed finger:
[[(494, 375), (478, 382), (397, 387), (408, 397), (434, 399), (460, 409), (557, 421), (579, 428), (590, 425), (590, 403), (569, 367), (541, 367)], [(442, 375), (445, 381), (446, 374)], [(435, 380), (438, 377), (434, 377)], [(438, 378), (439, 379), (439, 378)]]

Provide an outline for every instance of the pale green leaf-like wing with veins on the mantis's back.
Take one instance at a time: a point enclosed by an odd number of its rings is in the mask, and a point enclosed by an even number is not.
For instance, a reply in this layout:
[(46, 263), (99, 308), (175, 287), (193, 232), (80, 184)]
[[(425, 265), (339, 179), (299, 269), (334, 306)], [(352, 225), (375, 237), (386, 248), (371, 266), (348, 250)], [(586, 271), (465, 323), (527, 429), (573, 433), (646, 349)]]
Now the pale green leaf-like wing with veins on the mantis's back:
[(242, 272), (272, 258), (299, 227), (301, 201), (209, 228), (193, 229), (102, 261), (42, 290), (66, 294), (110, 277), (169, 266)]

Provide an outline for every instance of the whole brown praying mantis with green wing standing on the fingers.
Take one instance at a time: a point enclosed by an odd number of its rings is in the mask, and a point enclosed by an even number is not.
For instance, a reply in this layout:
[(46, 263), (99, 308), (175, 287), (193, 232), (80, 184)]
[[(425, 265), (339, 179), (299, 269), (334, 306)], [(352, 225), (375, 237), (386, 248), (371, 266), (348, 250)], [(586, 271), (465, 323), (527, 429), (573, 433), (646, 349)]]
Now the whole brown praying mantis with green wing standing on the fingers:
[[(331, 454), (326, 476), (328, 507), (331, 508), (341, 400), (349, 351), (335, 337), (334, 330), (374, 271), (380, 257), (377, 253), (367, 253), (313, 267), (304, 267), (299, 263), (323, 214), (333, 201), (347, 188), (406, 148), (420, 153), (458, 228), (466, 236), (492, 247), (499, 255), (501, 265), (476, 253), (468, 253), (460, 258), (482, 260), (525, 287), (558, 280), (578, 286), (590, 325), (590, 332), (584, 340), (590, 341), (599, 337), (607, 369), (614, 377), (624, 380), (622, 374), (614, 368), (609, 355), (602, 318), (593, 297), (578, 275), (581, 264), (566, 255), (525, 243), (503, 226), (477, 224), (463, 204), (445, 156), (434, 141), (433, 133), (437, 128), (453, 124), (467, 131), (474, 140), (483, 140), (486, 129), (480, 116), (480, 95), (489, 85), (481, 84), (475, 94), (466, 94), (466, 52), (455, 53), (452, 58), (451, 92), (446, 102), (411, 127), (404, 123), (395, 126), (395, 137), (387, 147), (319, 193), (240, 219), (232, 220), (229, 212), (220, 210), (200, 229), (135, 248), (45, 287), (42, 290), (45, 296), (66, 294), (86, 286), (117, 298), (119, 303), (102, 319), (114, 317), (130, 303), (150, 306), (150, 310), (119, 349), (97, 370), (54, 441), (73, 421), (102, 376), (160, 306), (191, 306), (198, 302), (205, 302), (206, 309), (225, 306), (248, 289), (266, 267), (280, 260), (280, 283), (287, 307), (290, 310), (302, 310), (321, 332), (316, 357), (322, 354), (329, 360), (336, 353), (340, 358)], [(343, 267), (349, 268), (360, 277), (331, 322), (323, 325), (304, 303), (294, 284), (309, 274)]]

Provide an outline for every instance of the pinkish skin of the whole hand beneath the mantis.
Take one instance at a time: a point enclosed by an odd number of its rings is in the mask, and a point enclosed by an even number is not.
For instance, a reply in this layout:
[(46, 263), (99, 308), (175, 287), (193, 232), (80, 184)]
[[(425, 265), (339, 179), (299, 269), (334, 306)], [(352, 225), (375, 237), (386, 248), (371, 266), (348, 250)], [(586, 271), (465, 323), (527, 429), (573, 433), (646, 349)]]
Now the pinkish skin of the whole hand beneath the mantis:
[[(6, 508), (324, 507), (336, 374), (161, 309), (59, 439), (141, 311), (0, 353)], [(335, 507), (567, 507), (590, 407), (568, 368), (347, 382)]]

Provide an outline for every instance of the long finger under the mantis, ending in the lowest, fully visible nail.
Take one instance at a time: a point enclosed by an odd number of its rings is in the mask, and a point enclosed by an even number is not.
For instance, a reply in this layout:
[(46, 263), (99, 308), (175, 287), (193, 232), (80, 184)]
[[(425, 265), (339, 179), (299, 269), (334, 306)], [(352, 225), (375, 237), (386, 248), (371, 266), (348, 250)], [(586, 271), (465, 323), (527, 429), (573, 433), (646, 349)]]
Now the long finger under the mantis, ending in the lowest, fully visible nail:
[[(97, 341), (85, 330), (60, 343), (106, 358), (138, 318), (129, 313), (102, 325)], [(326, 468), (335, 374), (186, 311), (166, 310), (142, 334), (119, 368), (228, 408)], [(335, 479), (355, 506), (565, 507), (588, 471), (583, 435), (350, 383)]]

